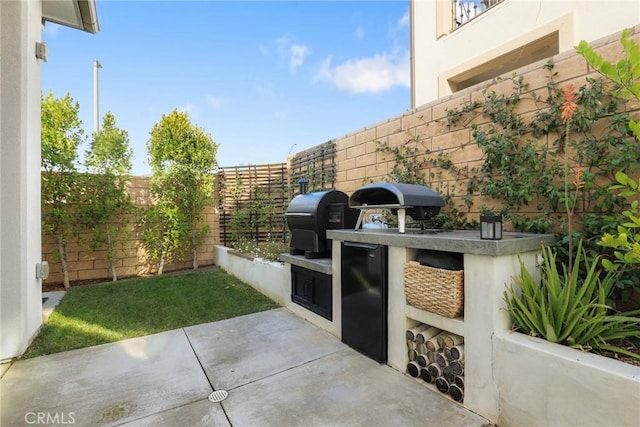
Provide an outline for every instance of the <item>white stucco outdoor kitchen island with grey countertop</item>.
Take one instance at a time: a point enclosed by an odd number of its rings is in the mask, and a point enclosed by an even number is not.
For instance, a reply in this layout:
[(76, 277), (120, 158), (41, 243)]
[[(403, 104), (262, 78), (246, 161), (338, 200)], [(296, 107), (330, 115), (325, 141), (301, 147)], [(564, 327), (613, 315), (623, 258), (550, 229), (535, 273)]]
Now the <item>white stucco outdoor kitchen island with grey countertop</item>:
[[(406, 371), (405, 332), (424, 323), (464, 337), (464, 406), (495, 421), (498, 389), (493, 375), (492, 337), (511, 329), (504, 307), (505, 286), (520, 273), (521, 259), (532, 274), (538, 274), (542, 246), (551, 235), (505, 232), (502, 240), (481, 240), (480, 232), (421, 231), (408, 229), (327, 230), (332, 239), (333, 333), (340, 336), (342, 242), (386, 246), (388, 255), (387, 363)], [(447, 318), (407, 304), (404, 293), (405, 263), (417, 259), (421, 250), (462, 254), (464, 265), (464, 314)], [(288, 261), (288, 260), (287, 260)]]

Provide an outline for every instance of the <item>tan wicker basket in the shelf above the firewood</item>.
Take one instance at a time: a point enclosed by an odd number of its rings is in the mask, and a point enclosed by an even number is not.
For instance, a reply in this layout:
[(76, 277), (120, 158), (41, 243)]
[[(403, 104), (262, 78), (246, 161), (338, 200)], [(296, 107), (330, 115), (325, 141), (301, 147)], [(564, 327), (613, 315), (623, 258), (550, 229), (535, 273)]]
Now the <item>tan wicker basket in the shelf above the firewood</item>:
[(445, 317), (458, 317), (464, 311), (464, 271), (409, 261), (404, 265), (404, 293), (409, 305)]

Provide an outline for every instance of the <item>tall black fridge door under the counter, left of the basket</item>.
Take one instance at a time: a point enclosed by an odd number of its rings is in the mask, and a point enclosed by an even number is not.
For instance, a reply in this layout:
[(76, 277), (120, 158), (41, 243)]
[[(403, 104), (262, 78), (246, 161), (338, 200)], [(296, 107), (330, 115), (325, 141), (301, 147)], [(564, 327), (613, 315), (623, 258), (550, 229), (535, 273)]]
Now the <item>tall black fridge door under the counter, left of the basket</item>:
[(342, 342), (387, 361), (387, 247), (342, 243)]

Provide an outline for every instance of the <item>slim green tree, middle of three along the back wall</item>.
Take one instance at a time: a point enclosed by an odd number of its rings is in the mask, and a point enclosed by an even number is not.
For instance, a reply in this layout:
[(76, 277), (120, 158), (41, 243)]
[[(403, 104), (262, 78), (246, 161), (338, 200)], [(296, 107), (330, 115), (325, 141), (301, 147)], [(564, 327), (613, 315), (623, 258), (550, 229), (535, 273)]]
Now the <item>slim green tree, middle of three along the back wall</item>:
[(116, 242), (126, 231), (124, 218), (133, 210), (126, 188), (132, 156), (127, 131), (116, 126), (113, 114), (105, 114), (102, 127), (93, 135), (85, 157), (85, 166), (92, 173), (89, 182), (93, 188), (87, 192), (83, 217), (92, 230), (92, 248), (103, 245), (107, 248), (107, 261), (114, 282), (118, 280), (116, 262), (122, 254)]

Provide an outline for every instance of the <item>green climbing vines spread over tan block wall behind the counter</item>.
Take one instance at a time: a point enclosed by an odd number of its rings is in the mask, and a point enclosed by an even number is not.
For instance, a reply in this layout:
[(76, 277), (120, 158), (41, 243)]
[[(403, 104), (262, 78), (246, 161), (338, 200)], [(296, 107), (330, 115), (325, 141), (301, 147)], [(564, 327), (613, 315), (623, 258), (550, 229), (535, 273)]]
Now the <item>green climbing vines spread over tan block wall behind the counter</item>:
[[(588, 78), (576, 91), (578, 107), (567, 129), (561, 120), (563, 91), (555, 81), (554, 65), (544, 68), (548, 80), (538, 92), (529, 89), (523, 76), (513, 75), (505, 79), (511, 82), (510, 91), (497, 93), (487, 87), (482, 99), (447, 112), (451, 131), (470, 129), (482, 150), (480, 166), (460, 167), (446, 152), (429, 150), (420, 135), (409, 135), (397, 147), (378, 142), (377, 150), (393, 161), (389, 179), (440, 192), (446, 202), (439, 218), (442, 226), (474, 226), (469, 212), (499, 211), (517, 231), (560, 231), (565, 239), (563, 208), (569, 194), (581, 230), (575, 238), (585, 238), (593, 248), (603, 231), (615, 226), (611, 218), (625, 204), (624, 198), (607, 191), (615, 172), (640, 169), (638, 139), (627, 127), (630, 106), (606, 82)], [(526, 114), (524, 101), (533, 105)], [(565, 150), (570, 163), (566, 179), (571, 183), (566, 193)], [(489, 200), (491, 206), (474, 206), (478, 200)]]

